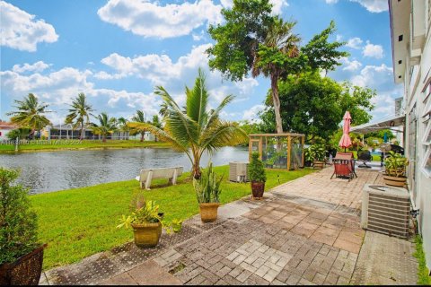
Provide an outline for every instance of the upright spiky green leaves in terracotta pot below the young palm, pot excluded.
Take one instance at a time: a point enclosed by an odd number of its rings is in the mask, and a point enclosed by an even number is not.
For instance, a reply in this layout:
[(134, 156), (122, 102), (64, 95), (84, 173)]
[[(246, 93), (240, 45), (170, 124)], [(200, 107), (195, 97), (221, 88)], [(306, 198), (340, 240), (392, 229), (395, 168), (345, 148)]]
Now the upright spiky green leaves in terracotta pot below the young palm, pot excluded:
[(193, 178), (193, 187), (196, 191), (199, 204), (218, 203), (222, 190), (220, 185), (223, 176), (217, 181), (216, 172), (213, 170), (213, 163), (210, 162), (206, 170), (202, 171), (199, 179)]

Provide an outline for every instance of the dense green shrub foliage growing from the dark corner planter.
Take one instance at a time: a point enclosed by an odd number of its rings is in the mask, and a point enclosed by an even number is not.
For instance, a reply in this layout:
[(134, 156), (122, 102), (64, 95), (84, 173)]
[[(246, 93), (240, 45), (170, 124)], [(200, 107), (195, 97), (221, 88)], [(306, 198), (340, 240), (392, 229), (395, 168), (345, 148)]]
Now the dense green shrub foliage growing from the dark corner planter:
[(37, 218), (27, 190), (12, 185), (18, 175), (17, 170), (0, 168), (0, 265), (38, 247)]

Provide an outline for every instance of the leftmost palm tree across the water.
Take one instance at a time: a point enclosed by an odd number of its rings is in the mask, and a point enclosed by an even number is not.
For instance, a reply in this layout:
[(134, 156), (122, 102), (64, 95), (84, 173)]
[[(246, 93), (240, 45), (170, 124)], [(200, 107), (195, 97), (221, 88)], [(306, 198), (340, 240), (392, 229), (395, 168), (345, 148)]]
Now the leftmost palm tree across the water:
[(43, 127), (51, 124), (49, 119), (44, 115), (50, 112), (46, 110), (48, 104), (39, 102), (38, 98), (32, 93), (24, 97), (24, 100), (14, 101), (17, 105), (13, 107), (18, 110), (6, 114), (7, 116), (13, 116), (11, 117), (13, 124), (30, 127), (31, 135), (34, 135), (35, 131), (40, 132)]

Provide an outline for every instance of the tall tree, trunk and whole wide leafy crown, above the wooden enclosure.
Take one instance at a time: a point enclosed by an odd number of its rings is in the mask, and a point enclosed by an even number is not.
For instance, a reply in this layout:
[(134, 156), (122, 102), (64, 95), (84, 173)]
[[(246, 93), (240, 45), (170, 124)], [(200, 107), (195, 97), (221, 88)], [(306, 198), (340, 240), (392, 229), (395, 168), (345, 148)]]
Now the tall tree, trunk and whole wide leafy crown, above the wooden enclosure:
[(307, 70), (333, 70), (347, 52), (344, 43), (329, 42), (335, 23), (300, 48), (294, 33), (295, 21), (286, 22), (272, 14), (268, 0), (233, 0), (232, 9), (222, 9), (225, 22), (210, 25), (208, 33), (216, 44), (207, 49), (209, 66), (225, 78), (242, 81), (250, 74), (264, 74), (271, 81), (272, 105), (277, 133), (283, 133), (278, 80)]

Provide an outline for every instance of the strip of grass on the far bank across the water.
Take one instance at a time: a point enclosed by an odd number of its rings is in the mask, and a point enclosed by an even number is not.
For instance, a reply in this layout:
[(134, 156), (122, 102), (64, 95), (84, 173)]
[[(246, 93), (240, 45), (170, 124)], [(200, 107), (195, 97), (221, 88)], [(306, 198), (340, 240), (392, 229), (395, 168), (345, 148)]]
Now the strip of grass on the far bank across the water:
[[(87, 150), (103, 148), (133, 148), (133, 147), (169, 147), (167, 143), (161, 142), (140, 142), (139, 140), (107, 140), (102, 143), (99, 140), (52, 140), (31, 141), (30, 144), (20, 144), (20, 152), (40, 152), (40, 151), (61, 151), (61, 150)], [(0, 144), (0, 152), (14, 152), (13, 144)]]

